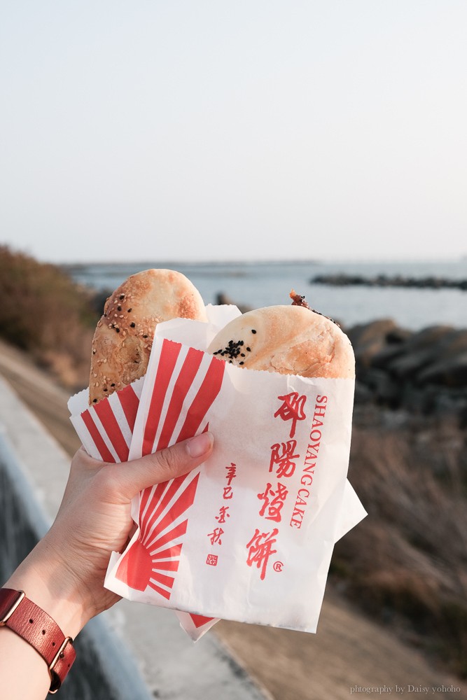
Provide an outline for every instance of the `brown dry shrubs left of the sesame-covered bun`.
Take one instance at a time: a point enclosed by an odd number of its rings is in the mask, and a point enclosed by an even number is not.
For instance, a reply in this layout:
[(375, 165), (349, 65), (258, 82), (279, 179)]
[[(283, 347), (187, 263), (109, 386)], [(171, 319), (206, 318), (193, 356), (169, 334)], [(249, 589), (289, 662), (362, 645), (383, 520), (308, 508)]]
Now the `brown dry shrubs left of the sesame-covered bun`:
[(55, 265), (0, 246), (0, 335), (64, 386), (87, 386), (97, 312), (92, 295)]

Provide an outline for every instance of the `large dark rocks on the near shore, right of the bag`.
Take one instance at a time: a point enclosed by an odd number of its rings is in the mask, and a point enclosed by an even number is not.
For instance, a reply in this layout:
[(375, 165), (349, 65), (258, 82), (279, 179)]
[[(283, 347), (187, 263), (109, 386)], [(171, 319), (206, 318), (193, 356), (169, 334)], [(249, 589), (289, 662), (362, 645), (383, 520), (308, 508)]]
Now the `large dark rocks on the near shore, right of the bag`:
[(411, 332), (391, 319), (344, 329), (356, 357), (356, 405), (456, 414), (467, 424), (467, 330)]

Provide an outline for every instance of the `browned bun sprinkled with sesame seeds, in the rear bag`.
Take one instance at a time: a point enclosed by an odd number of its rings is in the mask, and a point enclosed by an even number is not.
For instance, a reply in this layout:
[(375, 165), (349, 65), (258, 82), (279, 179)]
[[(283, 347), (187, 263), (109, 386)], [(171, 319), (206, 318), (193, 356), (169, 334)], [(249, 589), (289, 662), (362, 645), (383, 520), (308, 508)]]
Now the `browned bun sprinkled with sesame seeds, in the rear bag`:
[(200, 293), (181, 272), (146, 269), (113, 292), (92, 340), (90, 404), (146, 374), (155, 326), (171, 318), (207, 321)]

